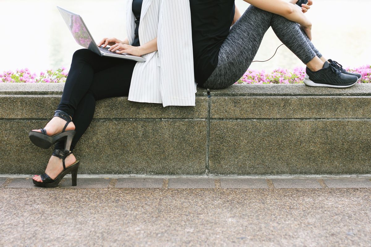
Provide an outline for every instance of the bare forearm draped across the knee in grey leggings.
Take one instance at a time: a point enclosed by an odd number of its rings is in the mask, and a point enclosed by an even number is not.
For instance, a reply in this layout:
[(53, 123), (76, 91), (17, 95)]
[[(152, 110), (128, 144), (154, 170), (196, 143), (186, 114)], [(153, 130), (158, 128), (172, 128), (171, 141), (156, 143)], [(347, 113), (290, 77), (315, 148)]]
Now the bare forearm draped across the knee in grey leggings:
[[(311, 21), (303, 14), (300, 8), (284, 0), (244, 0), (253, 6), (285, 17), (290, 21), (295, 21), (304, 27), (310, 27)], [(272, 2), (274, 4), (272, 4)]]

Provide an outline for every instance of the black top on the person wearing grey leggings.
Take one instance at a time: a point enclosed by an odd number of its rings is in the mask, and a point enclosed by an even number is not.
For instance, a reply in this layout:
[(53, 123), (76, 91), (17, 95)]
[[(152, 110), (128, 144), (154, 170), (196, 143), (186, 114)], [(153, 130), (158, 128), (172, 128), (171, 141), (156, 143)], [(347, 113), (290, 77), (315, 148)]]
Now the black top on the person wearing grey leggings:
[(201, 86), (219, 61), (234, 18), (234, 0), (190, 0), (194, 76)]

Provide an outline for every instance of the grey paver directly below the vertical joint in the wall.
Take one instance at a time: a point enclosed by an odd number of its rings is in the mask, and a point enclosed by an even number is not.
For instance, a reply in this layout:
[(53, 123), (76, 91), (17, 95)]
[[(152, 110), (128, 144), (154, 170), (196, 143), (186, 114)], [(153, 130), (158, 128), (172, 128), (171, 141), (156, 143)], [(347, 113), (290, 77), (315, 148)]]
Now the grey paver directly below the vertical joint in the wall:
[(169, 178), (168, 188), (215, 188), (214, 178)]

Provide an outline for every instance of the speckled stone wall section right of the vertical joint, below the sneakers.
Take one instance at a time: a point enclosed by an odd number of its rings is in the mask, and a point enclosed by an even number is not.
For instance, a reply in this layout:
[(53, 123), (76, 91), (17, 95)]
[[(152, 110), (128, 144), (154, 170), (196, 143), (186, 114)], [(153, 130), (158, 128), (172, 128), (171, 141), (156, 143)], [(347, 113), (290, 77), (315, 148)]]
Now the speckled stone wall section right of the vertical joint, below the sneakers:
[(371, 173), (371, 85), (210, 92), (209, 173)]

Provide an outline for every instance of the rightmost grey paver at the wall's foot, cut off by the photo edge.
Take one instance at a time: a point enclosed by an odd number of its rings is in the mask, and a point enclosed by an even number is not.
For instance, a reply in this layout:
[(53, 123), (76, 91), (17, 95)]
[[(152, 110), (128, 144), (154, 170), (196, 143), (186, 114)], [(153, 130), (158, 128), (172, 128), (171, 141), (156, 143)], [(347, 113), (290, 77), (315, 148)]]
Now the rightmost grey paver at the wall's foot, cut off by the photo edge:
[(329, 188), (371, 188), (370, 177), (323, 178)]

